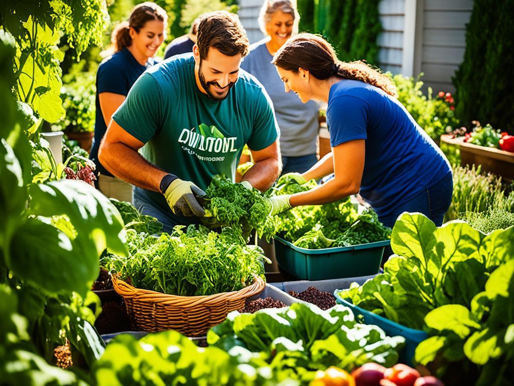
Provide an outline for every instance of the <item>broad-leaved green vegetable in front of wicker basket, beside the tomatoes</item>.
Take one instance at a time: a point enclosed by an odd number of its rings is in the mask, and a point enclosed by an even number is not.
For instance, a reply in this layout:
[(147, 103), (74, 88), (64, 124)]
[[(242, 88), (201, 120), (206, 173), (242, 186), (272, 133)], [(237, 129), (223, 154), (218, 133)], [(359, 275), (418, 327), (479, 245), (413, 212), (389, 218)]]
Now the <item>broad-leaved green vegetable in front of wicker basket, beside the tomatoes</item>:
[(298, 379), (306, 371), (332, 365), (346, 371), (366, 362), (391, 366), (404, 339), (387, 337), (377, 326), (356, 323), (352, 311), (341, 305), (323, 311), (295, 303), (253, 314), (233, 311), (225, 322), (211, 328), (207, 341), (225, 350), (241, 346), (261, 352), (273, 371)]

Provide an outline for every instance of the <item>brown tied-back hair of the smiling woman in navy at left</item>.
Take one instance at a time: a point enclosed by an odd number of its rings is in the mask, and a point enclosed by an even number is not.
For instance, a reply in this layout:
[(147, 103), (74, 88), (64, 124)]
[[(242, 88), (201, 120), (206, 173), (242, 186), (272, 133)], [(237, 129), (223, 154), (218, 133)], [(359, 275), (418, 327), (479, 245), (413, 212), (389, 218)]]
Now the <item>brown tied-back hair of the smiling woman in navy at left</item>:
[(111, 45), (114, 52), (121, 51), (132, 44), (132, 38), (130, 37), (131, 27), (139, 33), (146, 22), (151, 20), (160, 20), (164, 23), (164, 30), (166, 30), (168, 14), (157, 4), (144, 2), (132, 8), (128, 22), (125, 21), (118, 24), (111, 34)]

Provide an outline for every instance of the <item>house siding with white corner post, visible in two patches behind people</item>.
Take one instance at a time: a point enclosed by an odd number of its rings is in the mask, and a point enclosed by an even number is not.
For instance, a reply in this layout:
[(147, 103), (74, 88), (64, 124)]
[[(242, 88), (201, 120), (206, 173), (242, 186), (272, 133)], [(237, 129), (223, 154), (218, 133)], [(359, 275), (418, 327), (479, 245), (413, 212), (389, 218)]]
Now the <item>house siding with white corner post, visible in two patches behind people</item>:
[[(343, 1), (343, 0), (341, 0)], [(264, 36), (257, 17), (263, 0), (240, 0), (250, 43)], [(381, 0), (378, 66), (393, 74), (423, 72), (425, 88), (454, 91), (451, 78), (464, 58), (473, 0)]]

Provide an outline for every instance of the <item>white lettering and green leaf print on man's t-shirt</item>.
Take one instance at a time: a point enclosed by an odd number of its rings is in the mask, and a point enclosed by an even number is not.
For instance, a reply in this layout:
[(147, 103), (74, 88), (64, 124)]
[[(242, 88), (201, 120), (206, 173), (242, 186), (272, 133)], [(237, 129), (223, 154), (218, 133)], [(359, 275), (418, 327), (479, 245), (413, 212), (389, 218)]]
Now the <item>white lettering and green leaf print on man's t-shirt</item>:
[(222, 162), (228, 153), (236, 152), (237, 137), (225, 137), (219, 129), (202, 123), (196, 128), (182, 129), (178, 143), (183, 151), (196, 155), (200, 161)]

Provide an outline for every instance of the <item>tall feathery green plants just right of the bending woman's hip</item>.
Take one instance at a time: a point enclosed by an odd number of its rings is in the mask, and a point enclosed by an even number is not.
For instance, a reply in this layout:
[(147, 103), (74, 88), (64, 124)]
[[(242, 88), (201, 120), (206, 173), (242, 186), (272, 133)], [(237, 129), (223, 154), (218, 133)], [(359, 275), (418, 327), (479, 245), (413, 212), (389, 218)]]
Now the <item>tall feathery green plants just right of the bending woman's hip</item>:
[(500, 177), (480, 171), (480, 166), (474, 165), (453, 169), (453, 197), (445, 221), (455, 220), (466, 212), (486, 212), (490, 207), (514, 212), (514, 190), (507, 195)]

